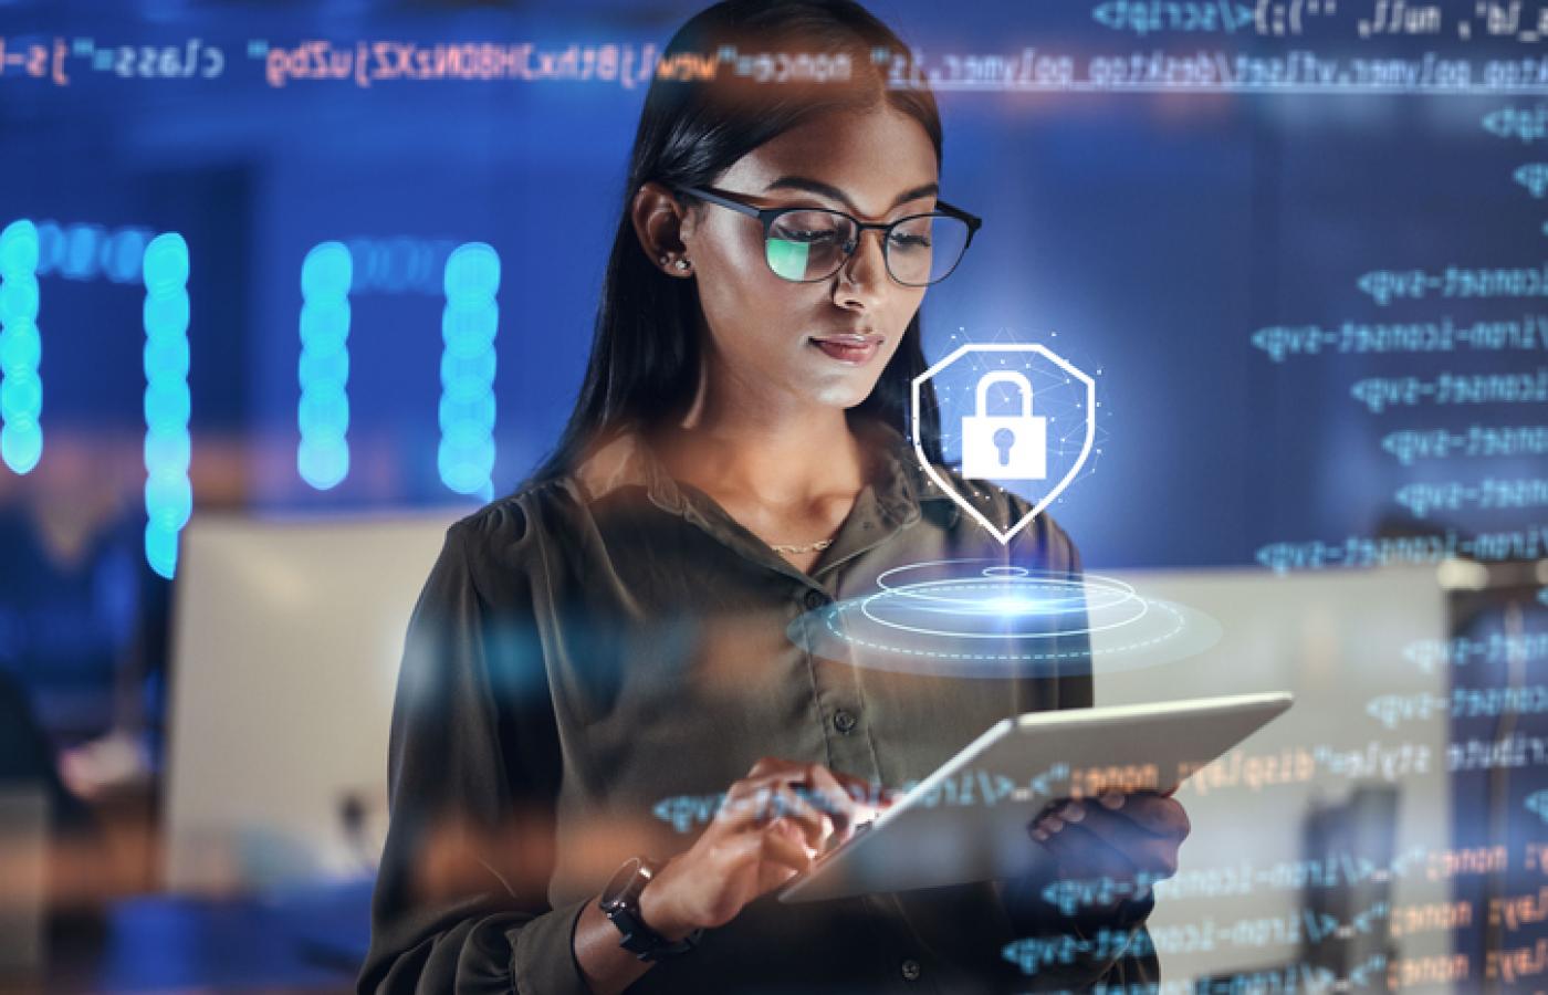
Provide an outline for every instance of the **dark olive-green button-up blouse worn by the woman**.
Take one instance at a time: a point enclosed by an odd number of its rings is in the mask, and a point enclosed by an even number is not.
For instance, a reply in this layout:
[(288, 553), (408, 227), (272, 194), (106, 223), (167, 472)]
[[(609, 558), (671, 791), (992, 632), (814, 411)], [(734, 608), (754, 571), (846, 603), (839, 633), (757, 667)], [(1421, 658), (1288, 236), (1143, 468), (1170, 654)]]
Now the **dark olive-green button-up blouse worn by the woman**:
[[(361, 992), (587, 992), (571, 953), (584, 904), (624, 859), (686, 850), (703, 825), (686, 817), (692, 800), (757, 758), (896, 788), (1000, 718), (1091, 704), (1084, 634), (1056, 647), (1085, 648), (1082, 665), (1003, 678), (862, 668), (791, 642), (793, 619), (875, 591), (893, 566), (1081, 569), (1046, 515), (1002, 546), (896, 432), (867, 438), (881, 469), (810, 574), (673, 481), (635, 435), (447, 531), (398, 678)], [(975, 504), (1002, 528), (1028, 511), (995, 487)], [(1076, 924), (1000, 884), (808, 905), (765, 896), (630, 990), (1127, 989), (1158, 981), (1146, 913), (1149, 901)], [(1090, 942), (1094, 925), (1132, 942)], [(1029, 935), (1073, 939), (1026, 975), (1003, 949)]]

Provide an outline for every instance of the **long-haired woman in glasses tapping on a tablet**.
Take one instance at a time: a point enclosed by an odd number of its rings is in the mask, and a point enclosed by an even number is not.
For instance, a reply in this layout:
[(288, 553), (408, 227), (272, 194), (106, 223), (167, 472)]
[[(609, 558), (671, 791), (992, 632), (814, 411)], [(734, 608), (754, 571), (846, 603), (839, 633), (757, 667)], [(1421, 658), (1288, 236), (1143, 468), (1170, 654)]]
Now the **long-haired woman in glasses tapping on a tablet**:
[[(449, 529), (410, 624), (359, 989), (1153, 981), (1149, 896), (1063, 918), (1037, 882), (769, 894), (853, 831), (867, 786), (924, 777), (1006, 715), (1088, 706), (1091, 678), (885, 675), (786, 638), (890, 566), (989, 551), (898, 433), (924, 288), (977, 220), (938, 201), (933, 99), (885, 88), (870, 54), (906, 48), (862, 8), (729, 0), (666, 57), (728, 43), (844, 53), (854, 76), (650, 88), (570, 427), (531, 481)], [(983, 501), (1002, 523), (1026, 512)], [(1079, 573), (1046, 518), (1014, 554)], [(686, 815), (720, 792), (714, 817)], [(1028, 846), (1070, 877), (1170, 873), (1181, 808), (1105, 802)], [(1133, 942), (1079, 942), (1102, 930)], [(1003, 949), (1033, 935), (1077, 942), (1028, 976)]]

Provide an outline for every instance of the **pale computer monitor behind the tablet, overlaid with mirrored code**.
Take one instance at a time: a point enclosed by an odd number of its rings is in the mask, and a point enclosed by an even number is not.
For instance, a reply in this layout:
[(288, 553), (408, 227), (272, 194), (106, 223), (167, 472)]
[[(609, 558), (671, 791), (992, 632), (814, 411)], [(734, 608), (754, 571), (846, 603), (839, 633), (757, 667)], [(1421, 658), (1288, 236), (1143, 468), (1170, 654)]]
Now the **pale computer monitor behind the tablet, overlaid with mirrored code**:
[[(1203, 611), (1221, 634), (1186, 659), (1108, 668), (1105, 647), (1125, 636), (1096, 633), (1098, 704), (1296, 695), (1285, 716), (1176, 792), (1194, 829), (1149, 919), (1169, 976), (1231, 987), (1263, 972), (1269, 984), (1302, 963), (1348, 970), (1365, 953), (1418, 958), (1450, 942), (1444, 928), (1395, 925), (1452, 905), (1454, 882), (1426, 860), (1457, 846), (1449, 707), (1404, 716), (1398, 706), (1449, 704), (1452, 670), (1415, 650), (1452, 634), (1446, 574), (1466, 566), (1118, 574), (1146, 597)], [(1356, 925), (1320, 936), (1322, 913), (1339, 910)], [(1303, 928), (1308, 916), (1316, 927)]]

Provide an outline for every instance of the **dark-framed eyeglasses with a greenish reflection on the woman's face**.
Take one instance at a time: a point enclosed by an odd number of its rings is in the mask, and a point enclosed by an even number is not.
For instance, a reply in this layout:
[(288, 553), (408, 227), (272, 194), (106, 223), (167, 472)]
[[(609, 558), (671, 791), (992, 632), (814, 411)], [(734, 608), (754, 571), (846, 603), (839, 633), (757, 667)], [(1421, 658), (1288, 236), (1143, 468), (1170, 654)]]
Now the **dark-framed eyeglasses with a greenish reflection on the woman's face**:
[(952, 275), (983, 218), (937, 201), (929, 214), (867, 223), (822, 207), (754, 207), (703, 187), (673, 186), (678, 193), (729, 207), (763, 224), (763, 258), (793, 283), (814, 283), (836, 274), (861, 244), (867, 229), (882, 232), (887, 272), (904, 286), (929, 286)]

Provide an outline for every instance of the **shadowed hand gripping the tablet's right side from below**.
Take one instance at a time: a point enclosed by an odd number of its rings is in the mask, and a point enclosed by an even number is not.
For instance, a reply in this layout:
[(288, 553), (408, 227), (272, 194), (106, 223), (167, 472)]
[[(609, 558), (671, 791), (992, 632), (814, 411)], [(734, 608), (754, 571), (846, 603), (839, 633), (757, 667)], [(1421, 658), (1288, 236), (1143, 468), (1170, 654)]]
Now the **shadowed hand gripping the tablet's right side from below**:
[(1173, 798), (1136, 791), (1067, 800), (1028, 833), (1054, 857), (1059, 879), (1136, 882), (1107, 907), (1111, 910), (1124, 899), (1142, 899), (1152, 882), (1176, 873), (1176, 853), (1190, 828)]

